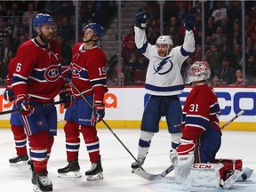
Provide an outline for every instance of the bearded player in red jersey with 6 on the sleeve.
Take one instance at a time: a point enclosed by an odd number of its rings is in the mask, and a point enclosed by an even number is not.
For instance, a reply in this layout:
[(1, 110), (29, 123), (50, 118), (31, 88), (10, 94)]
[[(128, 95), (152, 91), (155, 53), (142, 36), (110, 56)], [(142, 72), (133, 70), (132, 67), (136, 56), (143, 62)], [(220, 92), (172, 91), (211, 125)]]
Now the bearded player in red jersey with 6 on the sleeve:
[[(56, 26), (51, 15), (37, 14), (33, 28), (37, 36), (21, 44), (17, 51), (12, 89), (28, 135), (34, 189), (52, 191), (47, 163), (57, 133), (57, 111), (52, 104), (64, 82), (60, 44), (54, 40)], [(60, 95), (61, 100), (70, 98), (66, 92)]]

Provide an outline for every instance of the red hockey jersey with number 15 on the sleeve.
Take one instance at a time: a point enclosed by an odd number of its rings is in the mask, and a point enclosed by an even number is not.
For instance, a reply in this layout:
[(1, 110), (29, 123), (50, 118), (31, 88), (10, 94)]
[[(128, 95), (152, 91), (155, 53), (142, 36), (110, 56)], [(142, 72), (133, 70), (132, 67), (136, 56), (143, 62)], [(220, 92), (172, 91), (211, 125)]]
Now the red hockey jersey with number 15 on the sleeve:
[[(78, 43), (72, 50), (72, 84), (84, 96), (94, 94), (94, 100), (103, 101), (105, 92), (108, 92), (106, 55), (97, 46), (90, 50), (83, 47), (84, 43)], [(81, 97), (73, 86), (72, 92), (76, 98)]]

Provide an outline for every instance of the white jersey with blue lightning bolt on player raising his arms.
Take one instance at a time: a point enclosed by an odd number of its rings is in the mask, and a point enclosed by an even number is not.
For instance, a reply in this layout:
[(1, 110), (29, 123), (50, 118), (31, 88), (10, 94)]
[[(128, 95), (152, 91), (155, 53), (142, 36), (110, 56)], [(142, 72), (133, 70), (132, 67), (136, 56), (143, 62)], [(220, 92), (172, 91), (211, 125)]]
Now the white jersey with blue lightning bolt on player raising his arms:
[(148, 43), (145, 29), (134, 27), (135, 43), (149, 60), (145, 88), (152, 95), (179, 95), (184, 89), (180, 74), (181, 65), (195, 51), (193, 32), (186, 30), (184, 44), (172, 48), (165, 57), (160, 57), (156, 45)]

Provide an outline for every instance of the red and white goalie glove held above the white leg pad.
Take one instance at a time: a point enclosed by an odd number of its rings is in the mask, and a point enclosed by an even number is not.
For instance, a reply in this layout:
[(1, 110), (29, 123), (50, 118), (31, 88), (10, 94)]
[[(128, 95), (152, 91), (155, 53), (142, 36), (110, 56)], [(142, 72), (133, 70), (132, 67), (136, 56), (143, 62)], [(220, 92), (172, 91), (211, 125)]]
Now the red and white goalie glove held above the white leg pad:
[(177, 165), (179, 167), (189, 167), (194, 164), (196, 145), (193, 140), (180, 139), (180, 145), (176, 148), (177, 151)]

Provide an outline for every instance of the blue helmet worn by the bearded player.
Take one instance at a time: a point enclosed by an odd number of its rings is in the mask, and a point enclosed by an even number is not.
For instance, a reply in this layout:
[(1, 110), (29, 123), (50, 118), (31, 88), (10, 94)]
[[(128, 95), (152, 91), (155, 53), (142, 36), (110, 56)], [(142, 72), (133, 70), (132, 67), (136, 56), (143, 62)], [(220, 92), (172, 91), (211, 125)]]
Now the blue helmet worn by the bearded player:
[(36, 32), (36, 26), (41, 29), (42, 25), (54, 25), (56, 30), (56, 25), (53, 17), (47, 13), (38, 13), (36, 18), (33, 20), (33, 29)]

